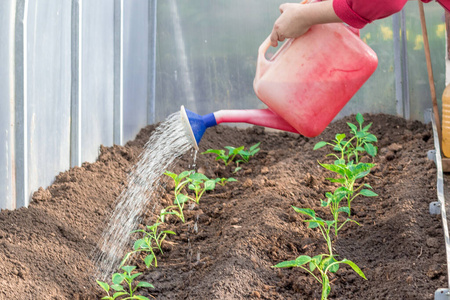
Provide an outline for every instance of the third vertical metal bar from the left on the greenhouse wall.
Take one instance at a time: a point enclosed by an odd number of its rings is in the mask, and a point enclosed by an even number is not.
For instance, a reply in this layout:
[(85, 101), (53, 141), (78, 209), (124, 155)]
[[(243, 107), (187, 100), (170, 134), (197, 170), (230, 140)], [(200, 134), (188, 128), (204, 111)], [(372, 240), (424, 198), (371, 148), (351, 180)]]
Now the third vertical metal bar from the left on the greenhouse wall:
[(123, 143), (123, 0), (114, 0), (114, 144)]

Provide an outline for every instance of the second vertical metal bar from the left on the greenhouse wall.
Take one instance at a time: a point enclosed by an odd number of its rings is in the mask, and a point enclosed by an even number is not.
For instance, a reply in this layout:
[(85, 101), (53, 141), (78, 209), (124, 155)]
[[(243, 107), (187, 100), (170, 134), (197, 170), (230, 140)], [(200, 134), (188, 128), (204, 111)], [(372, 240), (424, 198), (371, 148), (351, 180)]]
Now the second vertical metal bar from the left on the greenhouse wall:
[(72, 0), (70, 166), (81, 166), (82, 0)]

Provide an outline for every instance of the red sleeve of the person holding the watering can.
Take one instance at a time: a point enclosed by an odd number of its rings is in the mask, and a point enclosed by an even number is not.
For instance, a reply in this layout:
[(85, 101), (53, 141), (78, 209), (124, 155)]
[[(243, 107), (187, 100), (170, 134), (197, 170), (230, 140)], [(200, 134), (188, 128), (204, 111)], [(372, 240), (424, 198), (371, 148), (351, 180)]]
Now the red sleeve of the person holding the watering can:
[[(363, 28), (374, 20), (399, 12), (408, 0), (333, 0), (336, 15), (348, 25)], [(430, 2), (432, 0), (422, 0)], [(447, 10), (450, 0), (437, 0)]]

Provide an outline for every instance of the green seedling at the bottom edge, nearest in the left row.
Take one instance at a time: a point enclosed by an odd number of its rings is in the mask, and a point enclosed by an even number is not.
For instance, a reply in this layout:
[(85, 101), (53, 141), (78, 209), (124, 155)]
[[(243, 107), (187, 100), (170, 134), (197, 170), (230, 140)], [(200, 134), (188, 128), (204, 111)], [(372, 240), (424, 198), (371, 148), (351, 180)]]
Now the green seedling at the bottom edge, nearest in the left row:
[[(145, 296), (136, 295), (135, 292), (138, 288), (151, 288), (154, 289), (155, 287), (153, 284), (144, 282), (144, 281), (138, 281), (134, 282), (134, 279), (141, 275), (142, 273), (135, 273), (131, 274), (133, 270), (136, 269), (135, 266), (124, 266), (122, 267), (122, 270), (124, 270), (123, 273), (114, 273), (112, 275), (112, 285), (110, 286), (106, 282), (102, 282), (97, 280), (98, 285), (106, 291), (107, 296), (103, 297), (104, 300), (115, 300), (115, 299), (121, 299), (121, 300), (150, 300), (149, 298)], [(122, 284), (125, 282), (126, 289), (122, 286)], [(134, 286), (134, 287), (133, 287)], [(115, 291), (113, 295), (113, 290)]]

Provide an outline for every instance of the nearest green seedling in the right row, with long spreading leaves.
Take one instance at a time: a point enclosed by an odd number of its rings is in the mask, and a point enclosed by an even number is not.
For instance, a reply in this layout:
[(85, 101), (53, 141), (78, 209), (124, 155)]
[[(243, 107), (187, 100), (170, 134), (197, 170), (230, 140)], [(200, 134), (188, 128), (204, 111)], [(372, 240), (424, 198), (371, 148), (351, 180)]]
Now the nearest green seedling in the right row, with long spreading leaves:
[[(307, 264), (309, 264), (309, 266), (306, 266)], [(336, 260), (335, 256), (327, 254), (319, 254), (314, 257), (301, 255), (295, 260), (281, 262), (273, 266), (273, 268), (298, 267), (305, 270), (306, 272), (311, 274), (320, 284), (322, 284), (321, 300), (326, 300), (328, 299), (328, 295), (331, 292), (329, 273), (336, 273), (339, 270), (340, 264), (349, 265), (359, 276), (367, 280), (364, 273), (354, 262), (348, 259), (338, 261)], [(319, 273), (318, 275), (314, 274), (314, 271), (316, 270)]]

